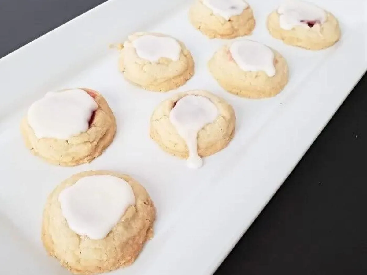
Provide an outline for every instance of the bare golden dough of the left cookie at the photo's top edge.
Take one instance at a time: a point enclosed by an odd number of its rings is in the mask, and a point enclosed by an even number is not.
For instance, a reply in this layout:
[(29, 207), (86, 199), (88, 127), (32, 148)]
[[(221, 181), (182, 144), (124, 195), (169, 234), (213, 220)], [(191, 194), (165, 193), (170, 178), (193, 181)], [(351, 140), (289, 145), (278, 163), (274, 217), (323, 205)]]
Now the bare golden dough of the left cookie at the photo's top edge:
[(209, 38), (231, 39), (252, 33), (255, 18), (252, 9), (247, 6), (241, 14), (224, 18), (215, 14), (203, 0), (195, 0), (190, 7), (189, 19), (192, 25)]

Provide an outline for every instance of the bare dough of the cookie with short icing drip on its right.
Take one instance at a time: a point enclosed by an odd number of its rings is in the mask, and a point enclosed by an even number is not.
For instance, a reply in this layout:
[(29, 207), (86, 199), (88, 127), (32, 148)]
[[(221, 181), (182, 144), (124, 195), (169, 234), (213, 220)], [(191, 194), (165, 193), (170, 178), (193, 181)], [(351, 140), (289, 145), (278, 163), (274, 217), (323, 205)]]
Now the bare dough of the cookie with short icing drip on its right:
[(232, 94), (252, 99), (269, 98), (283, 90), (288, 83), (288, 65), (279, 52), (271, 49), (275, 75), (268, 76), (262, 70), (242, 70), (231, 55), (231, 45), (222, 46), (208, 62), (210, 73), (221, 87)]

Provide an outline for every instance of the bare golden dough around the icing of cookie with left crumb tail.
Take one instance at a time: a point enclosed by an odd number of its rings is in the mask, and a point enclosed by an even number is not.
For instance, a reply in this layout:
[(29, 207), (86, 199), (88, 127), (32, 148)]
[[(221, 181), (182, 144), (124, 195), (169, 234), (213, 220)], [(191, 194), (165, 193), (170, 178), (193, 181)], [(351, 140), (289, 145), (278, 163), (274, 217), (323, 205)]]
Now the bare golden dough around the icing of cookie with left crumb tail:
[(170, 37), (160, 33), (134, 33), (128, 37), (120, 52), (119, 68), (127, 81), (144, 89), (167, 92), (186, 83), (194, 74), (194, 60), (185, 44), (181, 46), (178, 60), (161, 57), (157, 62), (141, 58), (134, 41), (142, 36)]

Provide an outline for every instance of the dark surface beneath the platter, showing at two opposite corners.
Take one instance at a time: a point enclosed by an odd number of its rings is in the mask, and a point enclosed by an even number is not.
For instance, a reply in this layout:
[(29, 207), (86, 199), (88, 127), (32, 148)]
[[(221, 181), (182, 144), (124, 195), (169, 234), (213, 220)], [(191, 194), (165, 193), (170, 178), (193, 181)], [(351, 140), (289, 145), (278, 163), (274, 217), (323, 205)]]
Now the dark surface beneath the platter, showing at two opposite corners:
[[(0, 0), (0, 57), (102, 2)], [(364, 76), (215, 275), (366, 275), (366, 155)]]

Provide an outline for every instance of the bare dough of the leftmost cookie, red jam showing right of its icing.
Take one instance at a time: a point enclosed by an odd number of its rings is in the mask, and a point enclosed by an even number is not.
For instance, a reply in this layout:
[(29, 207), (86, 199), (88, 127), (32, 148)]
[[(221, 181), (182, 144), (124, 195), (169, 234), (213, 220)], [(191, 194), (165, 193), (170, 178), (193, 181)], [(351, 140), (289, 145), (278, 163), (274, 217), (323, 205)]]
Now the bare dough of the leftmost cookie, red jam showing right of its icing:
[[(26, 147), (50, 164), (74, 166), (91, 162), (112, 143), (116, 132), (115, 116), (106, 100), (98, 92), (83, 88), (97, 103), (86, 132), (68, 138), (37, 137), (28, 115), (21, 122)], [(68, 90), (63, 90), (64, 92)], [(32, 107), (32, 106), (31, 106)]]

